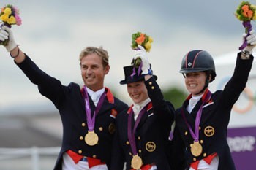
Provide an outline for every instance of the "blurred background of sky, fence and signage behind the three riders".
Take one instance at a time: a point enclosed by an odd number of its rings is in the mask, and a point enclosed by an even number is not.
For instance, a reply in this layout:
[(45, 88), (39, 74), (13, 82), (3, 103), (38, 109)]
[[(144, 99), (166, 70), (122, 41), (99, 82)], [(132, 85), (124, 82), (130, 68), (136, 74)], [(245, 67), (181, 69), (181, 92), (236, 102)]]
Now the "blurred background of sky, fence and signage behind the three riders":
[[(256, 4), (256, 1), (250, 1)], [(148, 58), (165, 98), (180, 107), (188, 93), (178, 73), (189, 50), (207, 50), (214, 57), (217, 78), (210, 84), (222, 89), (233, 74), (244, 27), (234, 13), (241, 1), (5, 1), (20, 9), (21, 26), (12, 26), (15, 41), (37, 65), (63, 85), (80, 77), (78, 55), (83, 47), (102, 46), (110, 55), (105, 85), (131, 104), (123, 66), (132, 61), (132, 34), (141, 31), (154, 42)], [(252, 22), (255, 27), (255, 22)], [(255, 160), (255, 63), (246, 91), (230, 120), (230, 148), (234, 158)], [(246, 128), (246, 129), (244, 129)], [(250, 128), (252, 133), (246, 134)], [(244, 129), (244, 131), (241, 131)], [(241, 131), (238, 136), (237, 130)], [(232, 133), (230, 133), (232, 134)], [(0, 48), (0, 169), (53, 169), (61, 146), (59, 112)], [(247, 154), (247, 155), (241, 155)], [(236, 160), (235, 160), (236, 161)], [(14, 163), (13, 163), (14, 162)], [(242, 161), (242, 165), (255, 167)], [(254, 163), (254, 164), (253, 164)], [(238, 161), (236, 161), (238, 164)], [(239, 169), (238, 167), (238, 170)], [(243, 169), (244, 170), (244, 169)], [(247, 169), (250, 170), (250, 169)]]

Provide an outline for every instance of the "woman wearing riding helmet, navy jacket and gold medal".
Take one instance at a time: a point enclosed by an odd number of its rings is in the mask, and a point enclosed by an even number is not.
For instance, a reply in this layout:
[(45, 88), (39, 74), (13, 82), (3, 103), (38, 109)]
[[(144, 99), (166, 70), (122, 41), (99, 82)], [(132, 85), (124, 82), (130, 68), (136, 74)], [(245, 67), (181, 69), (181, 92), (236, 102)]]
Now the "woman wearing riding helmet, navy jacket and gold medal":
[(180, 72), (190, 95), (176, 109), (171, 160), (174, 170), (236, 169), (227, 144), (227, 125), (252, 68), (255, 31), (243, 38), (248, 45), (237, 55), (233, 76), (224, 90), (215, 93), (208, 89), (208, 83), (216, 77), (211, 55), (204, 50), (192, 50), (184, 56)]

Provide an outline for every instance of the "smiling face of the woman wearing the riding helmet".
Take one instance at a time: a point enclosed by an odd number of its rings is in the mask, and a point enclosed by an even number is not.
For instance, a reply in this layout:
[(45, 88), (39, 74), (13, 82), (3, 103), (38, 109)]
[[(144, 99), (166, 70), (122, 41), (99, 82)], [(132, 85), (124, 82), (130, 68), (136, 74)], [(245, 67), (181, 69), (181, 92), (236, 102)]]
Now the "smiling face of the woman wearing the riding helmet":
[(203, 90), (206, 84), (206, 72), (192, 72), (184, 76), (186, 88), (189, 93), (192, 93), (192, 96), (198, 96), (203, 93), (200, 93), (200, 91)]

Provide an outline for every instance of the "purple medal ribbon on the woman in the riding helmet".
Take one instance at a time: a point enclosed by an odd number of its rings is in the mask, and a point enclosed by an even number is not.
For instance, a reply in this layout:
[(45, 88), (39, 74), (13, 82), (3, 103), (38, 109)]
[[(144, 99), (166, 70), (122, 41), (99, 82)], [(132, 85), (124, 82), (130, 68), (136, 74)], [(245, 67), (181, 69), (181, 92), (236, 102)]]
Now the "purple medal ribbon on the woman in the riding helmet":
[[(206, 98), (203, 98), (203, 104), (205, 104), (205, 102), (208, 101), (209, 98), (211, 98), (211, 92), (207, 89)], [(200, 108), (197, 111), (197, 116), (195, 117), (195, 133), (192, 130), (191, 125), (189, 125), (189, 123), (187, 122), (187, 119), (184, 115), (183, 109), (181, 109), (181, 115), (182, 115), (187, 127), (189, 128), (190, 134), (191, 134), (192, 138), (195, 140), (195, 142), (199, 141), (199, 125), (200, 125), (200, 120), (201, 120), (201, 115), (202, 115), (202, 110), (203, 110), (203, 104), (201, 104)]]

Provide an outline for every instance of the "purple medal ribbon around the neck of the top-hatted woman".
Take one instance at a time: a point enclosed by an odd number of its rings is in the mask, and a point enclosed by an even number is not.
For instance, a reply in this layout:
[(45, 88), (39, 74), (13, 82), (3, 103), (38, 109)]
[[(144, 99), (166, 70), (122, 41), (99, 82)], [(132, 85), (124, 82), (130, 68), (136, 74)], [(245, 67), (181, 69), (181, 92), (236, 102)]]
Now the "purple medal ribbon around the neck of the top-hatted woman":
[(145, 107), (143, 107), (143, 109), (140, 110), (140, 113), (139, 113), (139, 115), (138, 115), (138, 117), (137, 117), (137, 119), (135, 121), (135, 125), (133, 127), (133, 130), (132, 130), (132, 117), (134, 115), (133, 109), (129, 113), (129, 117), (128, 117), (128, 139), (129, 139), (129, 143), (131, 144), (131, 147), (132, 147), (133, 155), (137, 155), (138, 154), (137, 149), (136, 149), (136, 144), (135, 144), (135, 131), (136, 131), (136, 128), (138, 127), (138, 125), (140, 123), (141, 117), (146, 112), (147, 105)]

